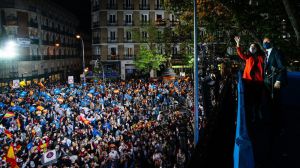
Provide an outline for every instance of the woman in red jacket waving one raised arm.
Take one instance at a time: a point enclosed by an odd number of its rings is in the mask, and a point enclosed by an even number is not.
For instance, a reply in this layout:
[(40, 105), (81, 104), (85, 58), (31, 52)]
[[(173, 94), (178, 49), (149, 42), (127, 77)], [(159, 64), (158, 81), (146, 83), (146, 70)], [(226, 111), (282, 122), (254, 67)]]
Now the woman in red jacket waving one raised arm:
[(247, 52), (243, 53), (240, 47), (240, 37), (235, 37), (237, 54), (246, 61), (243, 73), (245, 88), (246, 123), (249, 136), (253, 138), (253, 127), (261, 118), (261, 102), (263, 91), (263, 67), (265, 54), (259, 45), (252, 43)]

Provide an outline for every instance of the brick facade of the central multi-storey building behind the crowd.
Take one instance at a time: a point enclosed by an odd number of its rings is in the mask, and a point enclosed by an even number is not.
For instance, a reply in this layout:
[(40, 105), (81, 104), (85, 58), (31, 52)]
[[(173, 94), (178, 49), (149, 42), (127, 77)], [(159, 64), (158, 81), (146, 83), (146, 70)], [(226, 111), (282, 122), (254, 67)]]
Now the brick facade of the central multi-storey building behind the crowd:
[[(163, 0), (91, 0), (91, 9), (93, 60), (101, 61), (107, 77), (125, 79), (135, 73), (133, 60), (149, 38), (147, 25), (163, 30), (178, 23), (164, 9)], [(139, 42), (133, 37), (136, 33)], [(179, 45), (172, 46), (173, 59), (178, 53)]]

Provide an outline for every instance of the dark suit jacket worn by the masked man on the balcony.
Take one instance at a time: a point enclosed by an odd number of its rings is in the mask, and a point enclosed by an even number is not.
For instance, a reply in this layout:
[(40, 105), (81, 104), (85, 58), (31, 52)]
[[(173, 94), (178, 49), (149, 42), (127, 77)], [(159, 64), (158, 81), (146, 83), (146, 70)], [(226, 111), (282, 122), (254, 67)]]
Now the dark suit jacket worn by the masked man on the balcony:
[(267, 85), (274, 85), (276, 81), (280, 81), (281, 86), (287, 84), (285, 61), (282, 54), (276, 48), (272, 49), (268, 61), (265, 61), (264, 71), (264, 81)]

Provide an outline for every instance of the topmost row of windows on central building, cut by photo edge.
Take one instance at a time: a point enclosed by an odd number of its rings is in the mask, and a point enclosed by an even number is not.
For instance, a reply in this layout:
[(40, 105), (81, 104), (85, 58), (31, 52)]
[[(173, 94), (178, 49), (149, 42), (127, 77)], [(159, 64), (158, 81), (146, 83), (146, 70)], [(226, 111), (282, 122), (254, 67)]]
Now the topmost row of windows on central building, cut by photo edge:
[[(117, 1), (118, 3), (120, 3), (120, 0), (107, 0), (107, 7), (108, 8), (117, 8)], [(152, 0), (150, 0), (152, 1)], [(98, 7), (100, 5), (100, 0), (93, 0), (92, 1), (92, 6), (93, 7)], [(139, 4), (142, 7), (147, 7), (149, 8), (149, 0), (139, 0)], [(160, 8), (163, 9), (163, 5), (164, 5), (164, 0), (155, 0), (155, 6), (156, 8)], [(133, 0), (123, 0), (123, 7), (125, 9), (133, 9)]]

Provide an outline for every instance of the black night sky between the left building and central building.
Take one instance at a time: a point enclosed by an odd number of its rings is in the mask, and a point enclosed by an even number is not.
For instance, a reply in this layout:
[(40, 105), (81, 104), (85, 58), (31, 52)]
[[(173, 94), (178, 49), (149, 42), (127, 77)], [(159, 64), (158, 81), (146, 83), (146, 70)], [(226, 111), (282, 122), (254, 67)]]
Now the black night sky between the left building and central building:
[(91, 5), (90, 0), (51, 0), (72, 12), (79, 20), (78, 31), (91, 32)]

